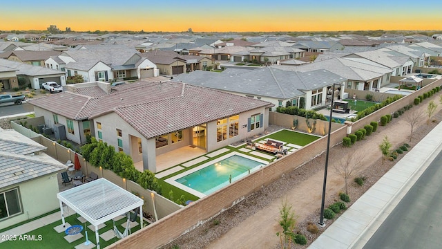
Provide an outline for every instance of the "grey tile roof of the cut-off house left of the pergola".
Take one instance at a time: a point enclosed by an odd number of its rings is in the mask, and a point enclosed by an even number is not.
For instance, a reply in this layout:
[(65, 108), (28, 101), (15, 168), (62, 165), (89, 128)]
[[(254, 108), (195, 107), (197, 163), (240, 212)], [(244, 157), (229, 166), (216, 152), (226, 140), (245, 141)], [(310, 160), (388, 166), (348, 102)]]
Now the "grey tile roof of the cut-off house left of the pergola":
[(67, 169), (50, 156), (38, 154), (46, 147), (17, 131), (0, 129), (0, 136), (0, 189)]

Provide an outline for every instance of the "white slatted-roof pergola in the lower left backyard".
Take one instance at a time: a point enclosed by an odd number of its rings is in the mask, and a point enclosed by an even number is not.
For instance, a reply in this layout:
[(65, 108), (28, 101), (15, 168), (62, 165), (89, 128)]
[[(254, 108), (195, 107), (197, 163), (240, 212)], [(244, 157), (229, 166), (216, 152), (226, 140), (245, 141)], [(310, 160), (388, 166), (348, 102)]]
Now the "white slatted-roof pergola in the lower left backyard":
[[(99, 249), (98, 225), (110, 221), (140, 207), (140, 227), (143, 228), (143, 199), (105, 178), (73, 187), (57, 194), (60, 202), (61, 221), (65, 227), (63, 203), (95, 226), (95, 237)], [(85, 228), (86, 229), (86, 228)]]

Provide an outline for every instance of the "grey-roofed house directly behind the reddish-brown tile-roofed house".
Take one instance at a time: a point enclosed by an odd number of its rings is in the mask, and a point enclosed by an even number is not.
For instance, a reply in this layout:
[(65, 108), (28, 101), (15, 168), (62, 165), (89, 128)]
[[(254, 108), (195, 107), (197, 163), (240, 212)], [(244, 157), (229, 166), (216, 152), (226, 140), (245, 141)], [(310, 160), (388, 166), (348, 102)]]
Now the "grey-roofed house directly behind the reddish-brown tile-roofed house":
[(300, 73), (270, 66), (255, 70), (228, 68), (222, 73), (195, 71), (178, 75), (174, 80), (265, 100), (276, 107), (293, 105), (305, 109), (323, 107), (330, 86), (346, 81), (344, 77), (323, 69)]

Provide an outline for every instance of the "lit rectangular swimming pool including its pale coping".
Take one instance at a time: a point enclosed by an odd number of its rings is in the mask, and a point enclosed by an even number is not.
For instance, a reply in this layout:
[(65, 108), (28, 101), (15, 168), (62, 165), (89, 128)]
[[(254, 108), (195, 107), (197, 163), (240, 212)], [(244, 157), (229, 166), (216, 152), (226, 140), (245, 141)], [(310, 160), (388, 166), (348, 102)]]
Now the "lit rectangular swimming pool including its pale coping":
[(165, 181), (201, 198), (229, 185), (230, 178), (231, 182), (237, 181), (267, 164), (265, 160), (232, 152)]

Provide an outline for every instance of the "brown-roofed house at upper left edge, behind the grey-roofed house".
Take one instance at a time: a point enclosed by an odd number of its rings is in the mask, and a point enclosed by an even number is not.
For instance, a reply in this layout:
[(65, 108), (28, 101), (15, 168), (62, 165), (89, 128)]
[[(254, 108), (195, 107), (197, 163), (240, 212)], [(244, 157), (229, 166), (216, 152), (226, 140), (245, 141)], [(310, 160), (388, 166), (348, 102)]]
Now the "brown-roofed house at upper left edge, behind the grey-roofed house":
[(0, 54), (0, 58), (9, 59), (12, 62), (21, 62), (32, 66), (44, 66), (44, 61), (51, 56), (59, 55), (59, 51), (26, 51), (13, 50)]

